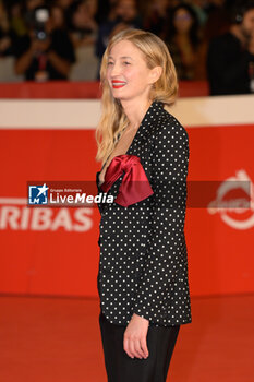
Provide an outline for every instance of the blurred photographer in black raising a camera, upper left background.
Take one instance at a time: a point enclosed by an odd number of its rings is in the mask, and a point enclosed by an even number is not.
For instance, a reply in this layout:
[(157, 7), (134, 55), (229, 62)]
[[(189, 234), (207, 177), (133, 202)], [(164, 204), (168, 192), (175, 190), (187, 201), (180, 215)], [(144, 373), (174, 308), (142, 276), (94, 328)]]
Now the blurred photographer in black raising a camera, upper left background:
[(15, 73), (26, 81), (66, 80), (75, 53), (68, 32), (55, 28), (47, 8), (36, 8), (14, 49)]

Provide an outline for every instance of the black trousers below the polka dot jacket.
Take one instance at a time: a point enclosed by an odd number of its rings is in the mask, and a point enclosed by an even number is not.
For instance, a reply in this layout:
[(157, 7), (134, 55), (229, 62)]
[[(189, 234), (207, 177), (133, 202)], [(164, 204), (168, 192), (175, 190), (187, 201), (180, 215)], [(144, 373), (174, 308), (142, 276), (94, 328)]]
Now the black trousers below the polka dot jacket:
[(108, 382), (166, 382), (180, 325), (155, 326), (150, 323), (146, 359), (131, 358), (123, 349), (126, 325), (112, 324), (100, 312), (99, 326)]

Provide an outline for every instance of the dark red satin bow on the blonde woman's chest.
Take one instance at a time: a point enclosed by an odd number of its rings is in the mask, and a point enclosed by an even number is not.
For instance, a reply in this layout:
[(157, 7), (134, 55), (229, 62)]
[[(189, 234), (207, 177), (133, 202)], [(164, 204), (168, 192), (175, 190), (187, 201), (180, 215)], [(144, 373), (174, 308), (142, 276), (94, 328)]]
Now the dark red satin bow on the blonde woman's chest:
[(108, 192), (112, 183), (125, 172), (119, 188), (116, 203), (126, 207), (150, 196), (154, 191), (149, 184), (141, 159), (136, 155), (117, 155), (111, 160), (105, 174), (105, 182), (100, 187)]

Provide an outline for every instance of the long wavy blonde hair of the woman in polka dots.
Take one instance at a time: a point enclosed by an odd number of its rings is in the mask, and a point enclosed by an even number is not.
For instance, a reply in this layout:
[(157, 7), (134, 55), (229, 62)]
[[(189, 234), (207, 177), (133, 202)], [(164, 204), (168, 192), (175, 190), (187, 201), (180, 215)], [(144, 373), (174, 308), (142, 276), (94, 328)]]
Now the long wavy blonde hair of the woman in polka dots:
[(178, 77), (176, 68), (167, 45), (152, 32), (128, 28), (113, 35), (105, 50), (100, 65), (101, 117), (95, 131), (97, 143), (96, 160), (105, 163), (112, 153), (118, 141), (129, 123), (129, 119), (119, 99), (113, 98), (107, 80), (107, 63), (111, 48), (121, 40), (129, 40), (145, 56), (149, 69), (162, 68), (160, 77), (150, 86), (149, 99), (160, 100), (165, 109), (169, 108), (178, 96)]

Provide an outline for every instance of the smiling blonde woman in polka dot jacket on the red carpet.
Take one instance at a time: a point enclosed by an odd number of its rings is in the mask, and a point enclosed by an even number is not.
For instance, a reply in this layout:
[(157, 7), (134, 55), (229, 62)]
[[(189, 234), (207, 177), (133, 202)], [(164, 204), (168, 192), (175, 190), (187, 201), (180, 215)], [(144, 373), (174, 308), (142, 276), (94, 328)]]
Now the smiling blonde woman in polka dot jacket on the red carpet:
[(114, 35), (100, 68), (99, 324), (110, 382), (164, 382), (191, 307), (184, 239), (189, 138), (165, 107), (178, 93), (165, 43)]

